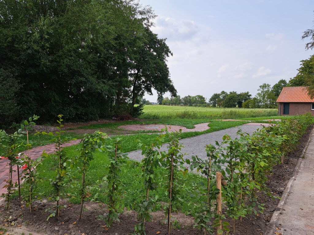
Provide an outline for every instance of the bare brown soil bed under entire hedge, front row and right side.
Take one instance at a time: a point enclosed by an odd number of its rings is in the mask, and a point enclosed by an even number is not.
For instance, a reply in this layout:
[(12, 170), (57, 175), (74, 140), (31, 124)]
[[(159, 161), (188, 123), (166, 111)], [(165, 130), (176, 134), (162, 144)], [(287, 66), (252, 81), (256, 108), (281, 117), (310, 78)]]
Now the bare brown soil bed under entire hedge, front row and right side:
[[(280, 197), (282, 195), (287, 182), (294, 174), (293, 170), (306, 145), (312, 128), (313, 126), (309, 128), (306, 134), (301, 138), (295, 151), (285, 157), (284, 164), (275, 166), (272, 173), (268, 175), (267, 186), (273, 196)], [(268, 223), (273, 212), (276, 210), (279, 199), (275, 198), (272, 200), (270, 196), (266, 196), (263, 193), (258, 193), (258, 195), (258, 201), (265, 204), (264, 213), (259, 215), (252, 214), (247, 218), (242, 218), (242, 222), (240, 222), (240, 220), (236, 221), (236, 232), (230, 232), (229, 234), (263, 235), (264, 232), (267, 231)], [(62, 208), (60, 217), (52, 217), (49, 221), (46, 221), (49, 213), (45, 212), (45, 209), (51, 206), (50, 202), (36, 202), (36, 210), (30, 214), (29, 208), (25, 206), (19, 207), (18, 201), (13, 201), (9, 211), (5, 209), (4, 205), (0, 207), (0, 222), (6, 228), (19, 232), (14, 233), (13, 231), (13, 233), (10, 232), (10, 234), (21, 234), (21, 231), (25, 231), (25, 234), (32, 232), (33, 234), (51, 235), (127, 235), (133, 233), (134, 225), (138, 223), (136, 212), (125, 211), (119, 217), (120, 222), (114, 222), (113, 226), (106, 230), (104, 227), (105, 223), (96, 220), (97, 215), (107, 214), (106, 206), (103, 203), (86, 202), (84, 204), (85, 208), (81, 221), (78, 221), (79, 205), (70, 205), (66, 201), (63, 201), (63, 203), (66, 204), (67, 207)], [(154, 212), (153, 216), (154, 219), (151, 222), (146, 222), (146, 234), (167, 234), (164, 212)], [(9, 219), (9, 217), (11, 218)], [(172, 234), (203, 234), (193, 228), (194, 219), (192, 217), (186, 216), (183, 213), (174, 213), (173, 219), (174, 218), (179, 222), (179, 227), (172, 228)], [(230, 223), (232, 231), (232, 221), (230, 219), (226, 221)]]

